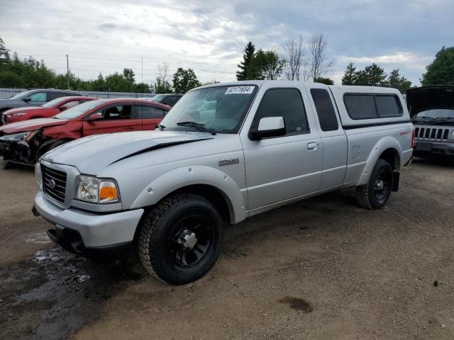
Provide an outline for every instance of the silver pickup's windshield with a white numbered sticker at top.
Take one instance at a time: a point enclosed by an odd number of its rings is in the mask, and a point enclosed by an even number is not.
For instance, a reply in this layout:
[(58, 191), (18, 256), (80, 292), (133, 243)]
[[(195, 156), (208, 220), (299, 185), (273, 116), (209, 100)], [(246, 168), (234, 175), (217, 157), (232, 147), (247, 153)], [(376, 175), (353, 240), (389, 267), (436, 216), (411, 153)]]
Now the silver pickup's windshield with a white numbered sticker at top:
[[(162, 120), (165, 130), (198, 131), (196, 124), (219, 133), (237, 133), (257, 86), (213, 86), (185, 94)], [(178, 124), (184, 123), (184, 124)]]

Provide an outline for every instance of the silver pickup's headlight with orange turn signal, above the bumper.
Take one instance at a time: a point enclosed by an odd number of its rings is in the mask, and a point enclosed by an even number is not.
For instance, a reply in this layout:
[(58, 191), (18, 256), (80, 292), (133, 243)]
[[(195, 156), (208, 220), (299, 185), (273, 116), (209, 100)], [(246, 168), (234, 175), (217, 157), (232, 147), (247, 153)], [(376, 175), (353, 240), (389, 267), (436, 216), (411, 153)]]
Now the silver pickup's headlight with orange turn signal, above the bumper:
[(120, 195), (116, 181), (81, 175), (77, 199), (89, 203), (118, 203)]

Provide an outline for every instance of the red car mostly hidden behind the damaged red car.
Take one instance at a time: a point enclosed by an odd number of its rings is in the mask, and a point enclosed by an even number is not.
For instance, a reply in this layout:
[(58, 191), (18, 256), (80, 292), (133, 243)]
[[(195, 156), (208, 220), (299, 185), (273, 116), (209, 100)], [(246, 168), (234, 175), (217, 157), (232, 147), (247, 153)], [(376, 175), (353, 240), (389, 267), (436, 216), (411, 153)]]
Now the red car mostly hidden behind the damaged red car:
[(96, 98), (82, 96), (60, 97), (42, 106), (11, 108), (10, 110), (4, 111), (1, 115), (1, 122), (8, 124), (34, 118), (50, 118), (68, 108), (85, 103), (86, 101), (93, 101), (94, 99)]

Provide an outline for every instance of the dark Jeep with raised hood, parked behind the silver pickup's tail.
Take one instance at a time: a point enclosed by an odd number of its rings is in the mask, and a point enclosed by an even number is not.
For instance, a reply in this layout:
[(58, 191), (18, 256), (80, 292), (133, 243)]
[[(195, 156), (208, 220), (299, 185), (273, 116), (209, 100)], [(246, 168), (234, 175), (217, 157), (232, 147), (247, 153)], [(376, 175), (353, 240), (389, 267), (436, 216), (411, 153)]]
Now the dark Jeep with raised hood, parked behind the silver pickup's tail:
[(415, 126), (414, 156), (454, 156), (454, 86), (422, 86), (406, 92)]

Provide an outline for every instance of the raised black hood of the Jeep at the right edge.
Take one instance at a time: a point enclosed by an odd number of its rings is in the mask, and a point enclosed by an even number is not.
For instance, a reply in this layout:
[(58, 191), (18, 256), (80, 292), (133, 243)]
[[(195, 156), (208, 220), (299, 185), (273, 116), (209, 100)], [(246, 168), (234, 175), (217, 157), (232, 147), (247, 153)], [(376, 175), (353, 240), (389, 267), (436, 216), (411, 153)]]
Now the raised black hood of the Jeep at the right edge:
[(406, 91), (406, 106), (411, 118), (427, 110), (454, 110), (454, 86), (424, 86)]

